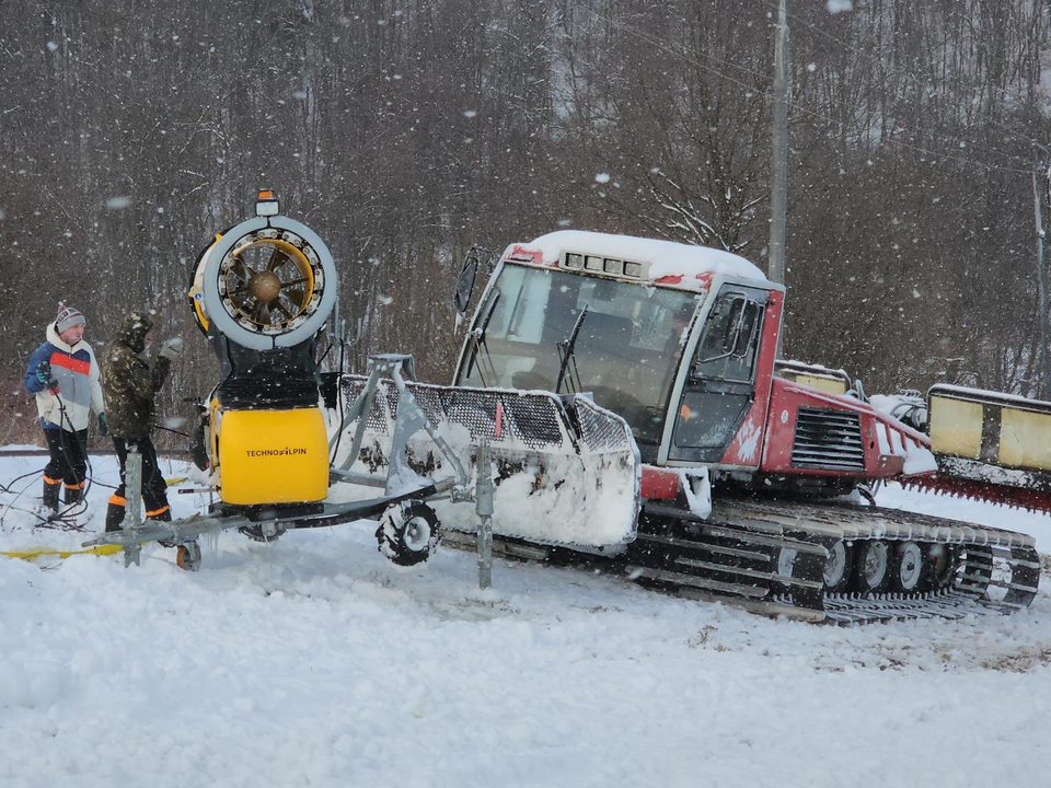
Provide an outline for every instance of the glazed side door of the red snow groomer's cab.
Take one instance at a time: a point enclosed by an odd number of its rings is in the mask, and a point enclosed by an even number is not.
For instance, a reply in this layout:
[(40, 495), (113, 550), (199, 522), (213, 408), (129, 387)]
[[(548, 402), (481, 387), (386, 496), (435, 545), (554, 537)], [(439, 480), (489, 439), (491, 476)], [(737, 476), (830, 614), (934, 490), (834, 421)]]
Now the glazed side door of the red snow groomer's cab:
[(682, 389), (668, 459), (717, 463), (755, 401), (770, 292), (724, 285), (708, 312)]

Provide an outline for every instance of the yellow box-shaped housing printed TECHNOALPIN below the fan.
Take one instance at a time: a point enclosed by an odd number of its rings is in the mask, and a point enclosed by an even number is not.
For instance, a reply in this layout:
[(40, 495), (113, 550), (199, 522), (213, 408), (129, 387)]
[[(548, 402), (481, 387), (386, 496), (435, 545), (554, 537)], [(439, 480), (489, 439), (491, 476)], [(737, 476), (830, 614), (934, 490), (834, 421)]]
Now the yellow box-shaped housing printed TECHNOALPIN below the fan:
[(212, 418), (223, 503), (312, 503), (328, 495), (328, 441), (321, 408), (218, 409)]

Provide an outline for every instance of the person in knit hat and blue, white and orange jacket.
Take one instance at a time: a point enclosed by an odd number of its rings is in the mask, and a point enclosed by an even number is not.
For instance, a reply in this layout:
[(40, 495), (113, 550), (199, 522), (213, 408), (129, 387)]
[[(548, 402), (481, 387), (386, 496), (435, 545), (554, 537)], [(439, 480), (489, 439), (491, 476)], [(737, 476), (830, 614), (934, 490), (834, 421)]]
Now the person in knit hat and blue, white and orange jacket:
[(59, 311), (47, 326), (47, 341), (33, 352), (25, 370), (25, 390), (36, 395), (50, 453), (44, 468), (44, 506), (53, 512), (58, 511), (63, 484), (67, 507), (83, 498), (92, 412), (99, 415), (102, 434), (108, 431), (99, 364), (84, 341), (86, 323), (79, 310), (67, 306)]

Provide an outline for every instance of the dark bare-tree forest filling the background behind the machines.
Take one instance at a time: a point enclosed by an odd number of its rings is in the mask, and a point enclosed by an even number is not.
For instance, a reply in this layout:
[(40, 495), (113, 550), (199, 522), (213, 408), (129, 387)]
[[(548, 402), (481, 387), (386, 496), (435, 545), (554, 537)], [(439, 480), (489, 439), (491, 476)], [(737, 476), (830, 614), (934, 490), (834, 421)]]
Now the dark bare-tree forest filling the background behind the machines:
[[(332, 248), (357, 371), (406, 351), (449, 381), (472, 244), (586, 229), (766, 268), (776, 0), (2, 8), (0, 445), (37, 440), (21, 379), (60, 301), (93, 344), (143, 306), (186, 337), (161, 410), (188, 416), (217, 378), (192, 266), (258, 188)], [(788, 0), (788, 27), (786, 355), (1039, 393), (1051, 0)]]

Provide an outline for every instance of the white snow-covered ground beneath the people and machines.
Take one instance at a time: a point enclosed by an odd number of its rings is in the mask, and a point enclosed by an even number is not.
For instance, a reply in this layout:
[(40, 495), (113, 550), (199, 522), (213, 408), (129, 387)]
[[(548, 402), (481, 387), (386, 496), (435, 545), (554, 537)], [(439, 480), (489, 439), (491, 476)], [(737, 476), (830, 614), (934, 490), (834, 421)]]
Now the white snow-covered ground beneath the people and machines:
[[(20, 508), (0, 549), (78, 545)], [(166, 463), (165, 463), (166, 465)], [(182, 475), (181, 468), (166, 468)], [(116, 468), (94, 461), (90, 531)], [(200, 505), (173, 495), (176, 515)], [(1051, 518), (885, 490), (1016, 528)], [(10, 507), (8, 505), (11, 505)], [(608, 576), (440, 551), (399, 570), (365, 526), (236, 534), (197, 573), (151, 548), (0, 559), (0, 786), (989, 786), (1051, 774), (1051, 601), (854, 629)], [(1044, 578), (1044, 580), (1047, 580)]]

